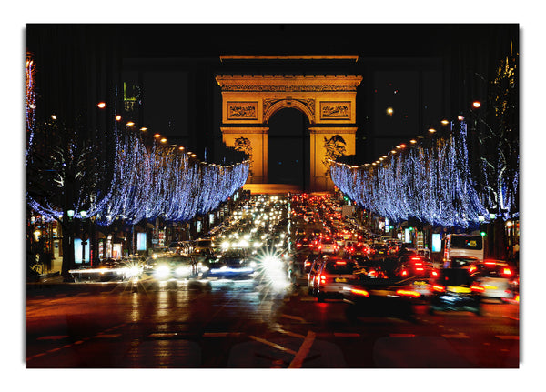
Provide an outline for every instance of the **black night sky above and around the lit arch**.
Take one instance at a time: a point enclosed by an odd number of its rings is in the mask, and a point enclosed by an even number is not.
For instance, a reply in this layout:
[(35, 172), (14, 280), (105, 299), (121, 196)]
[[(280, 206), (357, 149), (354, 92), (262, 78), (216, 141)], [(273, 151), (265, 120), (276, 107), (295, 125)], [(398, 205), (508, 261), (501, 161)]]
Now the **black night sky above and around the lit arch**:
[[(442, 119), (467, 110), (472, 100), (485, 102), (487, 86), (480, 77), (496, 69), (511, 42), (517, 50), (515, 24), (30, 24), (26, 29), (37, 64), (42, 108), (37, 113), (48, 116), (64, 107), (66, 116), (78, 110), (93, 116), (98, 100), (133, 95), (137, 105), (124, 118), (209, 160), (221, 141), (215, 75), (362, 75), (356, 159), (366, 163), (411, 137), (427, 135), (430, 127), (441, 128)], [(222, 62), (220, 55), (356, 55), (359, 60)], [(306, 143), (301, 129), (306, 125), (290, 124), (282, 112), (275, 121), (294, 129), (294, 153), (304, 151), (299, 146)], [(104, 123), (98, 117), (89, 121), (98, 128)], [(300, 159), (294, 156), (293, 164)]]

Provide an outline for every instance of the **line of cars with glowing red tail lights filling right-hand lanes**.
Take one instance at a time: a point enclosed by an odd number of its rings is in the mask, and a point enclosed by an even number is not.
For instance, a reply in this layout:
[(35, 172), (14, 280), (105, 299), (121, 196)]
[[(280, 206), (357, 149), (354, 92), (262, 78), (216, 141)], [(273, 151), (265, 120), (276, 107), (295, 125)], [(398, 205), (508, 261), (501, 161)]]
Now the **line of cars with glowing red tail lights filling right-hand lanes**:
[[(436, 266), (430, 253), (405, 248), (389, 236), (373, 235), (359, 227), (354, 217), (325, 218), (336, 216), (336, 207), (329, 203), (312, 207), (325, 230), (306, 236), (301, 229), (296, 238), (308, 295), (319, 302), (341, 298), (361, 307), (378, 300), (385, 306), (420, 302), (428, 304), (430, 312), (467, 310), (480, 315), (484, 299), (519, 301), (519, 277), (506, 262), (452, 257), (445, 266)], [(326, 214), (320, 211), (324, 204)], [(339, 246), (321, 247), (330, 237), (340, 240)]]

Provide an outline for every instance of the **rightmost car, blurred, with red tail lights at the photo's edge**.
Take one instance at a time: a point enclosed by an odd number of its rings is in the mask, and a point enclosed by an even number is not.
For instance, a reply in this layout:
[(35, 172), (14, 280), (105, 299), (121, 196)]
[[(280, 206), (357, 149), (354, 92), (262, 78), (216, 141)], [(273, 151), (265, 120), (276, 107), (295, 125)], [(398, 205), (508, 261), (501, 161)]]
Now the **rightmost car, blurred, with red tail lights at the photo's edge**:
[(514, 297), (514, 269), (505, 261), (485, 259), (469, 267), (470, 274), (484, 287), (482, 297), (510, 299)]

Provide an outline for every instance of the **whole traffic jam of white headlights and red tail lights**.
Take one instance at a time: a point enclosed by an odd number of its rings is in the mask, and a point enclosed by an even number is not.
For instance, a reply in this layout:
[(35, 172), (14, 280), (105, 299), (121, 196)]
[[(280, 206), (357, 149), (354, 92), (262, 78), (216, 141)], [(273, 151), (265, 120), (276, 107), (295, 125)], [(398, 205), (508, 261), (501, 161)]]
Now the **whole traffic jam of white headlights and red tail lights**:
[(356, 309), (425, 304), (430, 314), (480, 315), (484, 300), (519, 302), (516, 268), (471, 252), (480, 236), (446, 236), (449, 249), (433, 262), (429, 249), (374, 233), (349, 211), (330, 193), (247, 196), (197, 240), (70, 273), (76, 283), (246, 281), (303, 289), (318, 302), (342, 300)]

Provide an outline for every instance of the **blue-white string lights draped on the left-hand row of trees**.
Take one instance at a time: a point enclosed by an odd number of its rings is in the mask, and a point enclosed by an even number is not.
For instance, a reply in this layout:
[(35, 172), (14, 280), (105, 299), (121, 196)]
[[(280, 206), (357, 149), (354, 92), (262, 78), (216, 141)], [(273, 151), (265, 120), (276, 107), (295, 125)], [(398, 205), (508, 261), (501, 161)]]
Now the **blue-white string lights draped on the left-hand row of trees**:
[[(115, 139), (111, 184), (87, 211), (87, 217), (96, 216), (102, 226), (117, 217), (127, 224), (158, 216), (188, 221), (216, 209), (248, 179), (248, 160), (231, 166), (207, 164), (171, 146), (146, 146), (134, 133), (120, 136), (116, 131)], [(27, 203), (45, 219), (62, 216), (60, 206), (47, 200), (38, 202), (27, 195)], [(76, 200), (75, 210), (81, 209), (84, 200)]]

